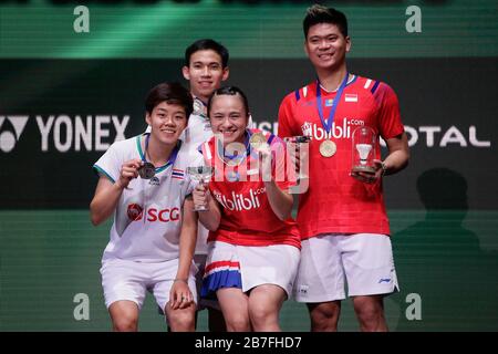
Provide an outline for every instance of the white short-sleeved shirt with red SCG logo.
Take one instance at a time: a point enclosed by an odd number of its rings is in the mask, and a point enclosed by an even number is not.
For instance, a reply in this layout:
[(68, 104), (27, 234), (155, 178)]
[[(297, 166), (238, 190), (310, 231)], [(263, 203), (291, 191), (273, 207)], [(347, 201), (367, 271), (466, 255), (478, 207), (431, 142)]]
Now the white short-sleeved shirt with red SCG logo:
[[(123, 163), (143, 159), (141, 137), (114, 143), (93, 168), (101, 176), (116, 181)], [(181, 146), (181, 142), (178, 146), (176, 158), (157, 167), (154, 178), (134, 178), (123, 190), (103, 260), (120, 258), (157, 262), (178, 258), (183, 205), (196, 184), (186, 169), (203, 162), (199, 154), (191, 154)]]

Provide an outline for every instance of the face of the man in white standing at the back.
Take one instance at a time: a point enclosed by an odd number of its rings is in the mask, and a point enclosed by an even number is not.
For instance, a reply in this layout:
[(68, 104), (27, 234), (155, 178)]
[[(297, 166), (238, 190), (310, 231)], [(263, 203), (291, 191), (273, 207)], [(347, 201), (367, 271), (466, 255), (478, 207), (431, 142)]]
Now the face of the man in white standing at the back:
[(222, 67), (221, 56), (214, 50), (200, 50), (191, 54), (183, 74), (190, 82), (190, 92), (207, 102), (212, 92), (228, 79), (228, 67)]

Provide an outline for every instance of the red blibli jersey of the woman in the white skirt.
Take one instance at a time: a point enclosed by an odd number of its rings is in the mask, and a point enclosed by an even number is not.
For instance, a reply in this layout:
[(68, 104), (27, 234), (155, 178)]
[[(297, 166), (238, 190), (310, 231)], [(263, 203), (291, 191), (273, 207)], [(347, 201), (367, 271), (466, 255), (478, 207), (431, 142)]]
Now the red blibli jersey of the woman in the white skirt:
[[(248, 129), (248, 135), (264, 134), (272, 153), (284, 148), (283, 142), (267, 132)], [(222, 148), (215, 148), (216, 137), (201, 145), (203, 155), (208, 165), (214, 166), (215, 176), (209, 181), (209, 190), (220, 205), (221, 220), (216, 231), (210, 231), (208, 242), (224, 241), (240, 246), (290, 244), (301, 248), (299, 229), (289, 218), (280, 220), (271, 209), (266, 194), (264, 181), (259, 174), (259, 156), (247, 144), (247, 152), (237, 165), (228, 165), (220, 156)], [(272, 162), (276, 159), (274, 154)], [(274, 178), (272, 168), (272, 176)], [(284, 191), (293, 183), (274, 178), (278, 187)]]

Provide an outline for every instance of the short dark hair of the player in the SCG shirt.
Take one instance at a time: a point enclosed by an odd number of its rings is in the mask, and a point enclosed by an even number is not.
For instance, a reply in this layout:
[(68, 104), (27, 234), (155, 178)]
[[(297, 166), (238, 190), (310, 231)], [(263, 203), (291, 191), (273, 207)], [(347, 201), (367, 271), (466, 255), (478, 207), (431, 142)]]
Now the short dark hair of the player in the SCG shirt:
[(177, 82), (164, 82), (153, 87), (145, 98), (145, 111), (147, 111), (148, 114), (152, 114), (154, 107), (163, 102), (183, 106), (187, 119), (194, 110), (194, 101), (190, 92)]

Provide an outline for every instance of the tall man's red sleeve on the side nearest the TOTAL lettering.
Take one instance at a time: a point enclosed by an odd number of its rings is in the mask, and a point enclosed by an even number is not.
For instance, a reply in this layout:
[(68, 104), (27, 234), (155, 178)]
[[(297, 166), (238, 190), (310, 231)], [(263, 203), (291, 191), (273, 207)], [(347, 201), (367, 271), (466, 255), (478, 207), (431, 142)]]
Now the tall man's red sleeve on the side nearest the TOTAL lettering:
[(378, 104), (378, 127), (384, 139), (393, 138), (402, 134), (405, 129), (400, 114), (400, 102), (387, 84), (381, 83), (374, 93), (374, 98)]

